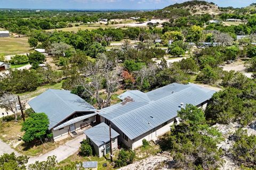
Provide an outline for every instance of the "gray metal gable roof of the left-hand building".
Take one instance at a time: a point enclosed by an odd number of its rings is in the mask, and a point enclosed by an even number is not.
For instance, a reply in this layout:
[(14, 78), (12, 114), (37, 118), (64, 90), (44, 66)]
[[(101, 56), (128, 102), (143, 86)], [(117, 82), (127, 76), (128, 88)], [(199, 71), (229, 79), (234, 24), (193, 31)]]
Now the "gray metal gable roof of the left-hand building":
[(93, 112), (96, 109), (81, 97), (68, 90), (49, 89), (28, 102), (36, 113), (45, 113), (49, 129), (54, 128), (75, 112)]

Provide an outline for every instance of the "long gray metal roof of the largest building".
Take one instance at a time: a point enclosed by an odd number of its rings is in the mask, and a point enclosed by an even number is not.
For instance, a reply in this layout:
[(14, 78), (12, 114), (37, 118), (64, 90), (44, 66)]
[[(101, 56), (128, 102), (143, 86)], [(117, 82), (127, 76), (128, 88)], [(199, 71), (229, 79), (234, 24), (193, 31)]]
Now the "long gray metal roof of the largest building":
[[(125, 105), (119, 103), (101, 109), (99, 114), (114, 123), (132, 140), (176, 117), (177, 111), (181, 109), (181, 103), (199, 105), (209, 100), (214, 92), (196, 84), (173, 83), (147, 92), (147, 96), (151, 99), (148, 103), (136, 101)], [(118, 113), (116, 113), (117, 108)]]

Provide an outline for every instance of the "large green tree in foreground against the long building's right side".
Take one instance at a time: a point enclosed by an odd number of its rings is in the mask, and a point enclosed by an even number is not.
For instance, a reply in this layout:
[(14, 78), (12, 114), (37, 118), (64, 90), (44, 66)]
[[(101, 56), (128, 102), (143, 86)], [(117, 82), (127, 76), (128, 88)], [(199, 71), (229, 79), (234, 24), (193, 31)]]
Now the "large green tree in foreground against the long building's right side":
[(206, 124), (202, 109), (187, 105), (178, 112), (181, 123), (171, 128), (160, 142), (163, 150), (173, 154), (175, 168), (218, 169), (222, 150), (217, 144), (221, 133)]

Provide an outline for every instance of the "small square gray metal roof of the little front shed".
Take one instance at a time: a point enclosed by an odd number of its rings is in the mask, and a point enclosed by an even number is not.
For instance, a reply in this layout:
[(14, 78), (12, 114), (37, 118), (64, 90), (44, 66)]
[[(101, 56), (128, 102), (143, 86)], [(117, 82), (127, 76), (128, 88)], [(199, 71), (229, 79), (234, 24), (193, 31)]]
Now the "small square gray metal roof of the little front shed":
[[(92, 142), (97, 146), (101, 146), (107, 142), (109, 142), (109, 126), (106, 123), (100, 123), (90, 129), (84, 131), (86, 136), (90, 138)], [(111, 128), (111, 137), (118, 137), (119, 133)]]

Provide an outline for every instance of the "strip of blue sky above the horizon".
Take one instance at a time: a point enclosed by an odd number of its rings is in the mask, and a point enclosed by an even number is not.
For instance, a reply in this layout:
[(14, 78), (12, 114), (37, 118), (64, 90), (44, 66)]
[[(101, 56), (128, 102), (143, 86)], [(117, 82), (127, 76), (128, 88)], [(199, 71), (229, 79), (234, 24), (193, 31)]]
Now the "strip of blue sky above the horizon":
[[(186, 0), (0, 0), (0, 8), (160, 9)], [(255, 0), (212, 0), (219, 6), (245, 7)]]

